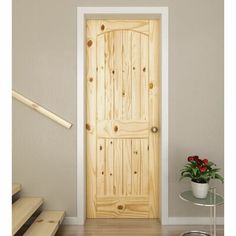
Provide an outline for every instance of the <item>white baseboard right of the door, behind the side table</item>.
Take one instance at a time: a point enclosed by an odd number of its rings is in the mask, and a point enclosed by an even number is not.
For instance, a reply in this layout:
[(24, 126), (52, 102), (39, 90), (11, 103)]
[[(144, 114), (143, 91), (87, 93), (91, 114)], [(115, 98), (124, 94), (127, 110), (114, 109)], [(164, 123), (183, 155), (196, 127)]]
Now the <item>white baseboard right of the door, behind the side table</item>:
[[(169, 217), (168, 225), (209, 225), (209, 217)], [(216, 217), (217, 225), (224, 225), (224, 217)]]

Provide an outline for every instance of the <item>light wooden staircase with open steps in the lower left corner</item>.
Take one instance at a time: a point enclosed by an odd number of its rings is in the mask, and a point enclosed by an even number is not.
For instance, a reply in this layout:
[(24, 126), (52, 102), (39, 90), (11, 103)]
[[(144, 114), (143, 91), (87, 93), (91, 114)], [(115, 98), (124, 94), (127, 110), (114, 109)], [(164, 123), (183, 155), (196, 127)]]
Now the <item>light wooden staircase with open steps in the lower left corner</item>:
[[(20, 184), (12, 185), (12, 196), (21, 191)], [(40, 197), (21, 197), (12, 204), (12, 235), (24, 236), (53, 236), (62, 223), (64, 211), (42, 211), (34, 222), (25, 231), (23, 228), (32, 216), (39, 211), (43, 204)], [(22, 233), (20, 232), (21, 230)]]

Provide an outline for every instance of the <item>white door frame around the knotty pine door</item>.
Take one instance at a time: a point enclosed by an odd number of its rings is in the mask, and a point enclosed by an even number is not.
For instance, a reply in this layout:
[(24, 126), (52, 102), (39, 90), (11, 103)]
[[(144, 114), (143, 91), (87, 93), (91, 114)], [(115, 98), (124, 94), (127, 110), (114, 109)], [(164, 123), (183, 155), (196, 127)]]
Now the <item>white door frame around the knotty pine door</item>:
[(86, 20), (160, 19), (161, 96), (160, 96), (160, 220), (168, 224), (168, 7), (77, 7), (77, 217), (86, 220)]

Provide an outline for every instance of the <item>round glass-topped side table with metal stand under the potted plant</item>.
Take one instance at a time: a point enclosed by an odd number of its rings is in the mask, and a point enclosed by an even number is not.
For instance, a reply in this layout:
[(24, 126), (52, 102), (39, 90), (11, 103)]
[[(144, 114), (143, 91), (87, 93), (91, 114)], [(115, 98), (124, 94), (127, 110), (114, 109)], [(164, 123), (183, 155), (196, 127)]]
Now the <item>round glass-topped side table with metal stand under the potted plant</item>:
[(186, 231), (181, 233), (180, 236), (216, 236), (216, 207), (224, 203), (224, 198), (216, 193), (216, 188), (211, 188), (208, 195), (204, 199), (196, 198), (193, 196), (192, 191), (184, 191), (179, 194), (179, 197), (187, 202), (191, 202), (197, 206), (204, 206), (210, 208), (210, 233), (204, 231)]

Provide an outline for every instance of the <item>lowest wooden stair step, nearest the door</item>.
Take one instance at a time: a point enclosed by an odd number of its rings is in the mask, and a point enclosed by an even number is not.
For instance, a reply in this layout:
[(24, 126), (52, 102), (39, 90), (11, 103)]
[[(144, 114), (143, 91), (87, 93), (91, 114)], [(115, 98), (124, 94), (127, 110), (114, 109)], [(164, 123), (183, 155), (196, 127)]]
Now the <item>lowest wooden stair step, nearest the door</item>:
[(43, 211), (24, 236), (54, 236), (64, 216), (64, 211)]

